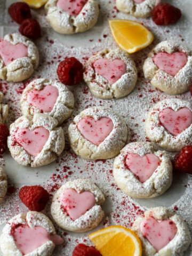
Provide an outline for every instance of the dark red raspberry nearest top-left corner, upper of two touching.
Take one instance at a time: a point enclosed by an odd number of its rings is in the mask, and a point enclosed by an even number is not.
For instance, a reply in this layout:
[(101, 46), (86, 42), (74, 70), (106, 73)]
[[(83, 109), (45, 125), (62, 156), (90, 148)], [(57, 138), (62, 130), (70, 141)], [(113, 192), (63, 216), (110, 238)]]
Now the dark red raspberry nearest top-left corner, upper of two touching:
[(30, 7), (26, 3), (17, 2), (11, 4), (8, 12), (11, 18), (19, 24), (21, 24), (23, 20), (31, 18)]

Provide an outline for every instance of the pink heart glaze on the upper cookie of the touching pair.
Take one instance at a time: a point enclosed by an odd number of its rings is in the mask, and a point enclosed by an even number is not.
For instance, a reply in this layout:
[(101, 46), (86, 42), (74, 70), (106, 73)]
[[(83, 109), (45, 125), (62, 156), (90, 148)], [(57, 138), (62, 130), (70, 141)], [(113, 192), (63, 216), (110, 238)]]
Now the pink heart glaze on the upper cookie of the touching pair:
[(44, 112), (51, 112), (55, 102), (59, 96), (57, 87), (47, 85), (41, 91), (36, 89), (29, 91), (27, 94), (27, 101), (30, 105), (42, 110)]

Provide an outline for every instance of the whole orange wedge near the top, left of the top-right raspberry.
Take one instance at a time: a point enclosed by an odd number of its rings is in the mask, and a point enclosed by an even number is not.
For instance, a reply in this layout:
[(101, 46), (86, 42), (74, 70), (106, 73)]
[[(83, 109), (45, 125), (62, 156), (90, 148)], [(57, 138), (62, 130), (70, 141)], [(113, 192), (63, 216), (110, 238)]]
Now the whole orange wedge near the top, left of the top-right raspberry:
[(128, 53), (140, 51), (153, 42), (153, 34), (133, 20), (109, 20), (111, 33), (115, 42)]

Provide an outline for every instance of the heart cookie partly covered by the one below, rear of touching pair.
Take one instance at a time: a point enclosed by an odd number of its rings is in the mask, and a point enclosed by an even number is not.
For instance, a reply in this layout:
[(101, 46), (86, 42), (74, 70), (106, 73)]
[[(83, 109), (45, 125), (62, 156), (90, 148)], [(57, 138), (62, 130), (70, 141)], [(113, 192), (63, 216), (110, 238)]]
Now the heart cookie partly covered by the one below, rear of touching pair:
[(74, 107), (74, 95), (64, 84), (40, 78), (27, 85), (21, 96), (21, 110), (25, 116), (44, 113), (57, 119), (61, 124)]

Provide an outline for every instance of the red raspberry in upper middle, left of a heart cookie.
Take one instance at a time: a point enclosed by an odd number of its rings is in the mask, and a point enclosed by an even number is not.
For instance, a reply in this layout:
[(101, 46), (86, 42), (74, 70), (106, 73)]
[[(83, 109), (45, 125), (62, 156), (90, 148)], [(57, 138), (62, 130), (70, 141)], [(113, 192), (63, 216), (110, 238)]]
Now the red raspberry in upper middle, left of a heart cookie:
[(83, 65), (74, 57), (66, 58), (59, 63), (57, 74), (63, 84), (78, 84), (83, 79)]

